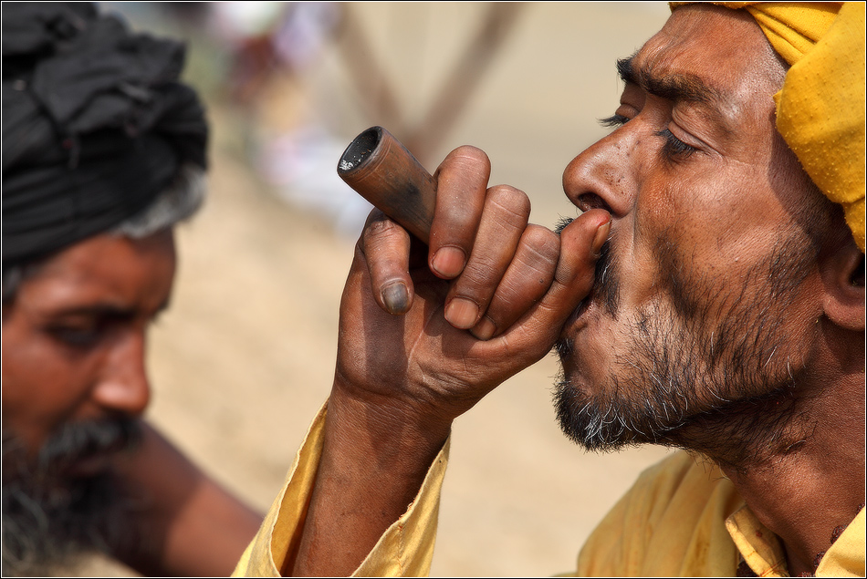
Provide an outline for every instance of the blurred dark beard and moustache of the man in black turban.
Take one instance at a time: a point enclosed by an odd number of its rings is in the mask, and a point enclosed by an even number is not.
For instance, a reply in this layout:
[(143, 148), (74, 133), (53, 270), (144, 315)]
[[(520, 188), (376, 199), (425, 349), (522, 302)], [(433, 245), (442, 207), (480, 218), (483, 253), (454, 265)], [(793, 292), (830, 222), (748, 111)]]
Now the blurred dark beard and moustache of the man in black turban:
[(14, 434), (3, 433), (3, 574), (46, 574), (81, 553), (131, 547), (130, 501), (110, 472), (65, 474), (80, 460), (130, 450), (137, 421), (64, 425), (28, 459)]

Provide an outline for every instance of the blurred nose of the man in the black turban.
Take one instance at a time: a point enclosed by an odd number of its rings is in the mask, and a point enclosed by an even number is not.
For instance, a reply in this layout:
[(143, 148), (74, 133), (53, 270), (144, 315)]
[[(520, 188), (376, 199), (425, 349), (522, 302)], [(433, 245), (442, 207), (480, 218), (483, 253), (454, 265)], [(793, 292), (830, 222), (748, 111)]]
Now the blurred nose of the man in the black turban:
[(135, 330), (118, 336), (106, 355), (94, 401), (110, 413), (140, 416), (151, 400), (151, 384), (145, 367), (145, 333)]

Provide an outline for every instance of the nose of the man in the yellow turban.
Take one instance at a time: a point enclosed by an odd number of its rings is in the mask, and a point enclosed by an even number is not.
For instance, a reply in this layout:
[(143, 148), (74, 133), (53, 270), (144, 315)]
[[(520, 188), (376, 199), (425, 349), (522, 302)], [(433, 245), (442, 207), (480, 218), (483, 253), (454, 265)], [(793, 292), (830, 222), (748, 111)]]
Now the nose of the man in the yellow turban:
[(632, 207), (638, 183), (641, 138), (630, 121), (571, 160), (563, 171), (563, 191), (582, 212), (604, 209), (614, 218)]

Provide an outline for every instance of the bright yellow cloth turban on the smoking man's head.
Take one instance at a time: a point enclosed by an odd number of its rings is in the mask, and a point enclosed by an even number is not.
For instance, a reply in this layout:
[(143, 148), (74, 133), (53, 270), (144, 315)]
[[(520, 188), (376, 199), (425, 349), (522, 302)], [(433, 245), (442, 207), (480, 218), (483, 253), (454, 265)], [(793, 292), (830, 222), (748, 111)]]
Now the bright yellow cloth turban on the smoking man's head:
[(746, 9), (791, 66), (774, 95), (777, 129), (864, 252), (864, 4), (714, 4)]

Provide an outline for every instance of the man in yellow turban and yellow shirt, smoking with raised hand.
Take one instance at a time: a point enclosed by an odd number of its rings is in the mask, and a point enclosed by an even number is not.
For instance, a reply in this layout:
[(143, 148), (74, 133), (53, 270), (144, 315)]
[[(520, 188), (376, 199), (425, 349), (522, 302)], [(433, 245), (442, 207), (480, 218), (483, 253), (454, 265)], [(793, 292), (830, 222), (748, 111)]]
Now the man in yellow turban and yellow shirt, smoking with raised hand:
[(330, 398), (238, 574), (426, 574), (452, 421), (556, 346), (570, 439), (682, 449), (576, 574), (864, 576), (864, 5), (715, 4), (617, 63), (559, 235), (472, 147), (429, 247), (371, 214)]

